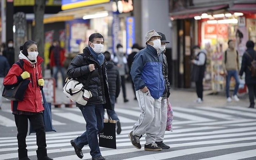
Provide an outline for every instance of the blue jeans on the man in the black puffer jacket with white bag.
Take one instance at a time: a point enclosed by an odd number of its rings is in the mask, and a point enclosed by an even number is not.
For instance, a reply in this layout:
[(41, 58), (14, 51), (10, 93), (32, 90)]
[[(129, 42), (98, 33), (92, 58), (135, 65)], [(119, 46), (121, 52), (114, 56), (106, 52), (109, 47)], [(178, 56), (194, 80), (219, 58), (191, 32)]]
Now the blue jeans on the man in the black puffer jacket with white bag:
[(91, 149), (90, 154), (92, 158), (95, 158), (101, 155), (98, 144), (98, 133), (104, 128), (103, 106), (102, 104), (88, 105), (79, 107), (79, 109), (86, 121), (86, 131), (78, 138), (75, 138), (74, 142), (80, 149), (89, 144)]

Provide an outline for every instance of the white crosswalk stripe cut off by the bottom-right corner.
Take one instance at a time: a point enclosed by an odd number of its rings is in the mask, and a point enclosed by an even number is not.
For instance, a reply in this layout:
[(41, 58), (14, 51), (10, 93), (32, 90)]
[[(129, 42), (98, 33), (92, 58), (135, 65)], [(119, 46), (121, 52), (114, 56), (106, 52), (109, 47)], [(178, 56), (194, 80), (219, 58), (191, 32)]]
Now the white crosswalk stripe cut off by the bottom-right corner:
[(250, 157), (255, 157), (256, 149), (252, 150), (246, 150), (246, 151), (241, 151), (241, 152), (236, 152), (236, 153), (230, 153), (230, 154), (225, 154), (221, 156), (215, 156), (211, 158), (204, 158), (200, 160), (217, 160), (217, 159), (233, 159), (233, 160), (238, 160), (238, 159), (246, 159)]

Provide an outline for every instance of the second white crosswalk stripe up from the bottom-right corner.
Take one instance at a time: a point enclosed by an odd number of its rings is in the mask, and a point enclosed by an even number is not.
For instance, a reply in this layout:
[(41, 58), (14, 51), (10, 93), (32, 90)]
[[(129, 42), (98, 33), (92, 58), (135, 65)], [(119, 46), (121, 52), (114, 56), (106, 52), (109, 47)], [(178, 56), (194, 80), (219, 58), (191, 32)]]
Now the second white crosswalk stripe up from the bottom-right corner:
[(174, 157), (178, 157), (178, 156), (196, 154), (196, 153), (201, 153), (201, 152), (206, 152), (206, 151), (213, 151), (213, 150), (227, 149), (227, 148), (236, 148), (236, 147), (251, 146), (251, 145), (256, 145), (256, 142), (183, 149), (183, 150), (165, 152), (164, 154), (156, 153), (156, 154), (138, 156), (135, 158), (128, 158), (126, 160), (138, 160), (138, 159), (140, 159), (140, 160), (162, 160), (162, 159), (174, 158)]

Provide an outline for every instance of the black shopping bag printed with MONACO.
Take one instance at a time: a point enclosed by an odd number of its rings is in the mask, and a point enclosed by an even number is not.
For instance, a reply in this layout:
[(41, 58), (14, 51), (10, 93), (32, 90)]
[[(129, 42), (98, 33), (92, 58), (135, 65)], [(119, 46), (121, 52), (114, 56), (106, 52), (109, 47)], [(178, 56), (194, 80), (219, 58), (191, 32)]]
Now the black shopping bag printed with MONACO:
[(104, 128), (98, 137), (99, 146), (116, 149), (116, 120), (110, 119), (108, 115), (108, 119), (104, 119)]

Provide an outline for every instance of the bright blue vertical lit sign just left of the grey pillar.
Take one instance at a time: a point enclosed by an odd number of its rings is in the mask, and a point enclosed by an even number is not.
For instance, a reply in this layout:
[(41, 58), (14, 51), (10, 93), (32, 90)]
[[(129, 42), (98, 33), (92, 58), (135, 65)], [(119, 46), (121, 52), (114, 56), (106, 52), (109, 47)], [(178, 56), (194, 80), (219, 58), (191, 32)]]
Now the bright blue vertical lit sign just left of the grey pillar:
[(126, 17), (126, 50), (127, 54), (132, 53), (132, 46), (135, 42), (134, 17)]

